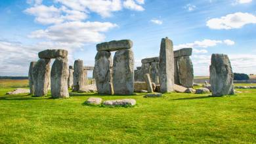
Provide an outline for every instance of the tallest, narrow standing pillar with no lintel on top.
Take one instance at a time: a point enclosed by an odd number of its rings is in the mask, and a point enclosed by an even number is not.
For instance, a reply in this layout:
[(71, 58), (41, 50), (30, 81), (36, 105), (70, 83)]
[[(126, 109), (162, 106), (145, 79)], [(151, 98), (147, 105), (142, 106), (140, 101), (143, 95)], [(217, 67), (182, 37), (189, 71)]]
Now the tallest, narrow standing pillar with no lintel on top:
[(173, 92), (174, 88), (174, 58), (173, 42), (168, 38), (161, 40), (160, 49), (160, 84), (161, 93)]

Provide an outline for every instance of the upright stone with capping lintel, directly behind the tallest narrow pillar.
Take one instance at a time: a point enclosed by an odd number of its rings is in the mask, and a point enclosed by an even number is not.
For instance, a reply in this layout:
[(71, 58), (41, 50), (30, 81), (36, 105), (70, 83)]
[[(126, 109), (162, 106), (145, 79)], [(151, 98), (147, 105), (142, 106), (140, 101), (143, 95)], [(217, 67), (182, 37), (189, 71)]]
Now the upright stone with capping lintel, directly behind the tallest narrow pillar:
[(192, 55), (192, 48), (182, 48), (174, 51), (174, 77), (175, 84), (186, 88), (193, 87), (194, 69), (189, 56)]

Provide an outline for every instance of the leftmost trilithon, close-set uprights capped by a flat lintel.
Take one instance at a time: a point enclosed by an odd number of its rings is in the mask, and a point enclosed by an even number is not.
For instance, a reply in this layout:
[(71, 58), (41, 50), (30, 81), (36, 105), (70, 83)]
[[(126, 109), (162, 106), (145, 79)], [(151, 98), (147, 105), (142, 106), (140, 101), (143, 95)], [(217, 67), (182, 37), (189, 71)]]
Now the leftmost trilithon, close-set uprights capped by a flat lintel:
[[(43, 50), (38, 53), (40, 58), (32, 68), (33, 86), (30, 90), (37, 97), (47, 95), (51, 85), (53, 98), (68, 98), (68, 51), (55, 49)], [(55, 58), (52, 69), (50, 68), (51, 59)], [(51, 71), (50, 71), (51, 69)], [(50, 80), (51, 78), (51, 80)]]

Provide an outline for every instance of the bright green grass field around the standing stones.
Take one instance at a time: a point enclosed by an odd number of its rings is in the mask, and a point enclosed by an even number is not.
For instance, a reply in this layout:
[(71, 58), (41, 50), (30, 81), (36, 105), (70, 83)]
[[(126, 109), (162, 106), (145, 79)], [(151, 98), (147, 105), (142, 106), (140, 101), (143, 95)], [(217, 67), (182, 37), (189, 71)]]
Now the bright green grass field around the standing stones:
[[(222, 98), (172, 93), (51, 99), (5, 96), (14, 89), (7, 85), (0, 87), (0, 143), (256, 143), (256, 90)], [(84, 105), (89, 97), (133, 98), (137, 105)]]

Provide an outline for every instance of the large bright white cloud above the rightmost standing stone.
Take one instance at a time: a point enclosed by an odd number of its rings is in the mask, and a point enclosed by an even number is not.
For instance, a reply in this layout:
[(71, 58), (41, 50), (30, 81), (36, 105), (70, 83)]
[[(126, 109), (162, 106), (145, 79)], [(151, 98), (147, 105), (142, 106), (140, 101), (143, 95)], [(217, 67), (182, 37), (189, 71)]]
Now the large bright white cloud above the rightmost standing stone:
[(246, 12), (236, 12), (221, 18), (212, 18), (207, 21), (206, 26), (211, 29), (238, 29), (246, 24), (256, 24), (256, 16)]

